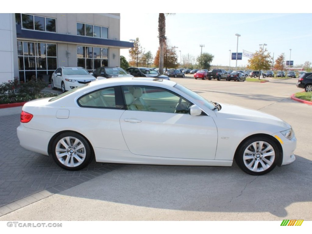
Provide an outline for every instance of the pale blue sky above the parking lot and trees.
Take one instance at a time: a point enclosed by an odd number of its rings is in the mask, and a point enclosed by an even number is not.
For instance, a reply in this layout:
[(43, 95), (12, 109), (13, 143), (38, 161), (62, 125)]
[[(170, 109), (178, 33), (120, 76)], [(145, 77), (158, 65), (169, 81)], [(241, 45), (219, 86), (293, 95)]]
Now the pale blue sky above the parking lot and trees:
[[(246, 11), (248, 12), (248, 11)], [(235, 66), (230, 61), (230, 51), (259, 51), (260, 44), (274, 55), (274, 60), (285, 53), (285, 60), (294, 65), (312, 61), (311, 13), (175, 13), (166, 17), (166, 37), (171, 46), (176, 46), (180, 56), (199, 56), (202, 52), (214, 56), (212, 65)], [(144, 51), (153, 55), (158, 50), (158, 13), (120, 14), (120, 40), (139, 38)], [(262, 46), (261, 46), (262, 47)], [(290, 51), (291, 49), (291, 51)], [(180, 52), (181, 51), (181, 52)], [(129, 58), (129, 49), (121, 55)], [(246, 66), (248, 57), (237, 61), (237, 66)]]

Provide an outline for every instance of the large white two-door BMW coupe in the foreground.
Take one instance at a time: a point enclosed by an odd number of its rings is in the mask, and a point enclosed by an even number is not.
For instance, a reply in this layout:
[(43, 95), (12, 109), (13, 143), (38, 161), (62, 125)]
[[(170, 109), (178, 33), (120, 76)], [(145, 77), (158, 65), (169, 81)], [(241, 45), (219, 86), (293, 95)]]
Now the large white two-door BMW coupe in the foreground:
[(272, 115), (218, 104), (171, 80), (90, 82), (27, 102), (17, 128), (25, 149), (66, 170), (101, 163), (238, 166), (251, 175), (295, 160), (295, 134)]

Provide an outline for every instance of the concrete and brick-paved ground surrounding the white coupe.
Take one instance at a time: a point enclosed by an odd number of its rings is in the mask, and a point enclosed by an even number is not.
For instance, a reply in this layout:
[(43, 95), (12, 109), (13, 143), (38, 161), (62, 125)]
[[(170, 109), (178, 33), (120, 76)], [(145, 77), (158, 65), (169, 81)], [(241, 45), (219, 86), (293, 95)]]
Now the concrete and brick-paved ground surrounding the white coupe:
[[(296, 80), (272, 79), (261, 84), (187, 78), (172, 80), (208, 100), (241, 105), (284, 119), (295, 130), (295, 162), (276, 167), (263, 176), (243, 173), (236, 163), (232, 167), (93, 163), (85, 170), (67, 172), (58, 169), (51, 159), (21, 149), (15, 133), (19, 115), (4, 115), (0, 117), (0, 130), (9, 134), (0, 136), (0, 150), (6, 152), (0, 157), (0, 172), (5, 172), (4, 177), (0, 175), (0, 195), (4, 197), (8, 193), (15, 196), (14, 199), (25, 197), (24, 186), (26, 190), (34, 186), (41, 192), (30, 192), (39, 200), (37, 202), (26, 197), (0, 207), (0, 221), (311, 221), (312, 106), (290, 99), (291, 94), (301, 91), (295, 87)], [(7, 188), (3, 184), (11, 190), (4, 191)], [(25, 206), (29, 203), (32, 204)], [(15, 211), (10, 212), (12, 210)]]

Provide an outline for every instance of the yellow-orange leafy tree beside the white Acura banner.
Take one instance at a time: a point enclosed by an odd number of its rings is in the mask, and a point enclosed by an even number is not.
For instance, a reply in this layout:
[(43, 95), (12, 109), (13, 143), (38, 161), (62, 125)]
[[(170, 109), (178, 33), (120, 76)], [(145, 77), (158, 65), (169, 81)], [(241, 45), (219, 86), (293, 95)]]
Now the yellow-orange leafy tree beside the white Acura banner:
[[(272, 57), (267, 49), (263, 50), (260, 47), (259, 51), (256, 51), (254, 56), (248, 60), (248, 67), (255, 71), (270, 70)], [(260, 79), (260, 76), (259, 76)]]

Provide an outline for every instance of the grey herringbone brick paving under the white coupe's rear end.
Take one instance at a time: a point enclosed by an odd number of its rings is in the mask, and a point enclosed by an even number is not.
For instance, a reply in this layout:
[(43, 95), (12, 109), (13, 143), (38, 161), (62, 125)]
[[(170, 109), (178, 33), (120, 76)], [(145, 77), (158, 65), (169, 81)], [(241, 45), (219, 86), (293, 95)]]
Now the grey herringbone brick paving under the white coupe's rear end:
[(21, 110), (0, 109), (0, 215), (123, 166), (94, 161), (84, 170), (70, 172), (56, 166), (51, 157), (23, 149), (16, 134)]

